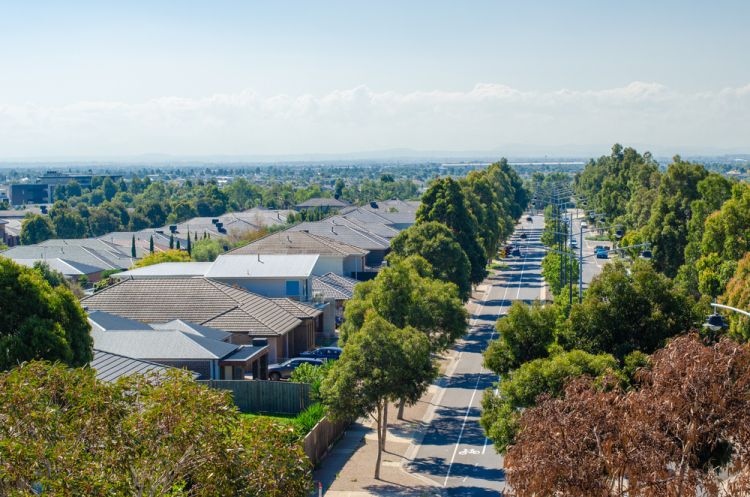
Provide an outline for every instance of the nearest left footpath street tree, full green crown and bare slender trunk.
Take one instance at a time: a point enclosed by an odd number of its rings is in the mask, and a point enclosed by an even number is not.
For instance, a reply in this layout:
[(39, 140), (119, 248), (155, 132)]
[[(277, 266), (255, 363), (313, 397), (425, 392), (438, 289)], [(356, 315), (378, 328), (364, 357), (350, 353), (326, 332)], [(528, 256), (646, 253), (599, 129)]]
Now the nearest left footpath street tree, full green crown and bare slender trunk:
[(430, 344), (423, 333), (413, 328), (399, 329), (370, 313), (323, 380), (323, 403), (333, 418), (369, 415), (375, 420), (378, 434), (375, 478), (380, 478), (388, 404), (397, 399), (416, 402), (435, 374)]

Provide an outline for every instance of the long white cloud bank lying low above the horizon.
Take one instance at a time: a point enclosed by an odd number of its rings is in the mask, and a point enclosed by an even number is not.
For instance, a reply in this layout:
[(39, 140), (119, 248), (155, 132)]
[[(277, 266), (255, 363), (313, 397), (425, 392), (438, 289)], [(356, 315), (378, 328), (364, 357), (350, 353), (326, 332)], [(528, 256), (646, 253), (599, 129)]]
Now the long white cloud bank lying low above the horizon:
[(2, 158), (502, 151), (511, 144), (527, 144), (533, 153), (534, 146), (615, 141), (750, 149), (750, 84), (694, 93), (643, 82), (548, 92), (499, 84), (412, 93), (359, 86), (322, 96), (246, 90), (142, 103), (0, 104)]

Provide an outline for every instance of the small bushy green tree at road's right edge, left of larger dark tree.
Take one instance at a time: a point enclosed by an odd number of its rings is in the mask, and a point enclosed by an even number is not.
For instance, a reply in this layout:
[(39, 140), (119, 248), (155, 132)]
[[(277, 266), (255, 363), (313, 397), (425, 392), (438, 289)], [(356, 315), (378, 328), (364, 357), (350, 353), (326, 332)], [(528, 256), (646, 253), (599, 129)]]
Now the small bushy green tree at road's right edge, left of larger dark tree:
[(521, 364), (547, 357), (555, 340), (558, 311), (555, 306), (533, 306), (514, 302), (503, 319), (498, 319), (498, 338), (484, 352), (484, 366), (507, 375)]

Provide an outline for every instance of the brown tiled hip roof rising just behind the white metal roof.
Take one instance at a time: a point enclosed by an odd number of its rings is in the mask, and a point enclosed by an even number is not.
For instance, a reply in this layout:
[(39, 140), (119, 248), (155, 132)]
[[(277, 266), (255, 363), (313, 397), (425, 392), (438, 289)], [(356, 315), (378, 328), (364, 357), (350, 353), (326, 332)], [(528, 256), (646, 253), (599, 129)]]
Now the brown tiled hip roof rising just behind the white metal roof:
[(228, 254), (319, 254), (325, 256), (366, 255), (354, 245), (304, 231), (272, 233), (228, 252)]

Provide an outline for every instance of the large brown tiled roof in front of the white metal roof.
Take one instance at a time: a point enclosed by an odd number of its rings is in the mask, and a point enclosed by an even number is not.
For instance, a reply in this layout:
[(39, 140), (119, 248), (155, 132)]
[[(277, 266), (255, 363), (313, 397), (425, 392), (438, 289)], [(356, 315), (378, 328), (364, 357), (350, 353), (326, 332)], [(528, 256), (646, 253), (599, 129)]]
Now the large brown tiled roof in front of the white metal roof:
[(300, 324), (271, 299), (207, 278), (124, 280), (81, 303), (144, 323), (182, 319), (258, 336), (285, 334)]

